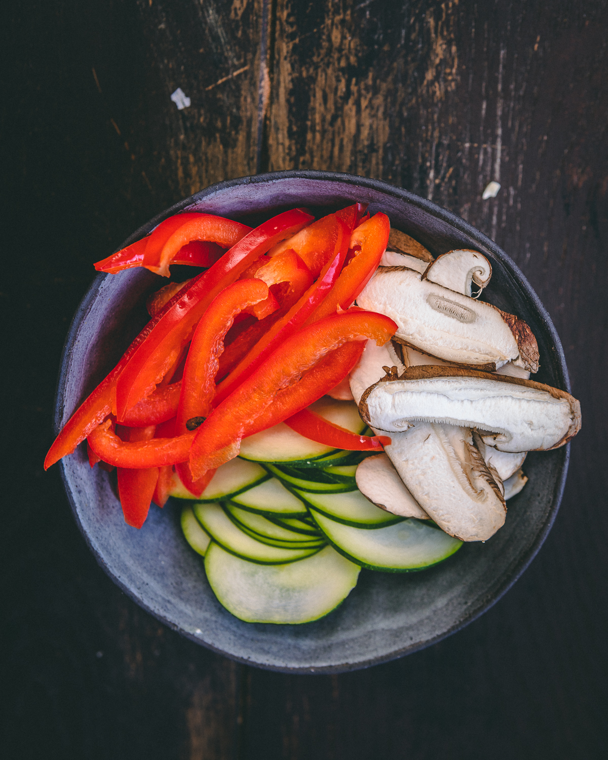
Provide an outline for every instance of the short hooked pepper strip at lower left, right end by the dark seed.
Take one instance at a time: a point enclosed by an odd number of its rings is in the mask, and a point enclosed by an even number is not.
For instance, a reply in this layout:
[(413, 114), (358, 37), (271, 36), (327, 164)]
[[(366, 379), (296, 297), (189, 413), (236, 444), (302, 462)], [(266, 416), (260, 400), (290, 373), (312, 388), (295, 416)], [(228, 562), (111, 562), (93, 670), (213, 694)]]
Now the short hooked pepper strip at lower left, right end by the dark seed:
[(196, 431), (175, 438), (154, 438), (150, 441), (122, 441), (112, 431), (112, 420), (106, 420), (89, 433), (87, 441), (100, 459), (116, 467), (131, 470), (162, 467), (188, 461)]

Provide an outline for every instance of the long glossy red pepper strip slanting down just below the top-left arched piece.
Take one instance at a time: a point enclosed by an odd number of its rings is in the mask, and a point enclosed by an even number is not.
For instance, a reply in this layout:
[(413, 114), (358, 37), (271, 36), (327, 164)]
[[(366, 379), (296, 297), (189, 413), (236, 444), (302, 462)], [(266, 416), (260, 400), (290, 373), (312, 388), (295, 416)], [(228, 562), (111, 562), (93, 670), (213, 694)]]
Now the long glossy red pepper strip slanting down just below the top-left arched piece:
[(174, 296), (179, 300), (163, 312), (154, 329), (122, 369), (116, 383), (119, 419), (154, 391), (215, 296), (237, 280), (252, 261), (283, 237), (301, 230), (310, 220), (309, 214), (293, 209), (264, 222), (233, 245), (210, 269), (195, 277), (181, 297), (179, 293)]

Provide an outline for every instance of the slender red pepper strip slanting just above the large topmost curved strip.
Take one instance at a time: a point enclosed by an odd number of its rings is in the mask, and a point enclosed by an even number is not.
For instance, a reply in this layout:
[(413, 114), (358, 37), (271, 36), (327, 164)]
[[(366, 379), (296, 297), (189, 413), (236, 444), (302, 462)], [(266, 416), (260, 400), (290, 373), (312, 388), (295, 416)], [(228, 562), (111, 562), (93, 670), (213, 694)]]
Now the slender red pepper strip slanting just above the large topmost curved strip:
[(309, 287), (301, 299), (293, 306), (287, 314), (277, 321), (273, 327), (258, 340), (258, 343), (247, 353), (239, 364), (230, 372), (226, 378), (217, 386), (215, 404), (220, 404), (233, 391), (238, 388), (239, 384), (247, 375), (255, 372), (261, 364), (271, 356), (271, 353), (302, 327), (312, 312), (317, 309), (318, 305), (331, 293), (332, 287), (337, 280), (344, 259), (347, 256), (350, 235), (356, 220), (356, 207), (350, 207), (352, 213), (348, 221), (342, 220), (335, 215), (340, 234), (337, 236), (336, 249), (334, 256), (329, 259), (325, 267), (321, 270), (318, 280)]

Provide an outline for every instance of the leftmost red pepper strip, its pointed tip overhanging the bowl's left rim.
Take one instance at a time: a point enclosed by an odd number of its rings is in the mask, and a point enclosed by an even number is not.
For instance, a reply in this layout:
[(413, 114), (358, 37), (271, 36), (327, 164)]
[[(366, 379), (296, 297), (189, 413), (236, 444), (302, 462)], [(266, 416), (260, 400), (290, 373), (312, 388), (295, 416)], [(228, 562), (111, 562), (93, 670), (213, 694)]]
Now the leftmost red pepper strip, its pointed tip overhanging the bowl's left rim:
[(144, 343), (144, 340), (152, 332), (154, 325), (157, 325), (157, 322), (160, 321), (163, 315), (172, 309), (179, 298), (179, 295), (173, 296), (173, 299), (167, 302), (155, 317), (150, 319), (138, 337), (133, 340), (122, 355), (119, 363), (72, 414), (68, 422), (62, 427), (57, 438), (55, 438), (51, 448), (49, 448), (49, 453), (46, 454), (44, 460), (45, 470), (48, 470), (52, 464), (65, 457), (66, 454), (71, 454), (78, 444), (84, 441), (87, 435), (106, 419), (106, 416), (110, 413), (116, 413), (117, 379), (122, 370), (125, 369), (125, 366), (128, 365), (131, 356), (135, 354), (138, 347)]

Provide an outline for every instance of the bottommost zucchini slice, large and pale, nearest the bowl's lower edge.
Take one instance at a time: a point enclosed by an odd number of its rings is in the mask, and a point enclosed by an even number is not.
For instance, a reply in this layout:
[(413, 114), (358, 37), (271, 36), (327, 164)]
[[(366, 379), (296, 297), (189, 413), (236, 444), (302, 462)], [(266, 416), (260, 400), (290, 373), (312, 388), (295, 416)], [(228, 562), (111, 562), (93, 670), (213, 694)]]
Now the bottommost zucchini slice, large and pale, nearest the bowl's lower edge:
[(331, 546), (290, 565), (255, 565), (211, 543), (204, 567), (217, 599), (245, 622), (318, 620), (344, 601), (359, 576), (358, 565)]

